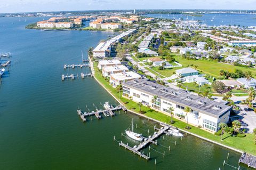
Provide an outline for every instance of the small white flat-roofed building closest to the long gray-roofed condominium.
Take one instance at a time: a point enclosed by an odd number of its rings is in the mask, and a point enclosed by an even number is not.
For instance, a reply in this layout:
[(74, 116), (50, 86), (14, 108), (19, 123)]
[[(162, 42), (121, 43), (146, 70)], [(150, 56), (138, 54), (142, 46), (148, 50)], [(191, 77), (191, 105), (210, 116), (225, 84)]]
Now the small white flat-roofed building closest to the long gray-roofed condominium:
[(128, 72), (119, 72), (116, 74), (111, 74), (110, 75), (110, 84), (113, 85), (114, 87), (121, 85), (122, 83), (126, 81), (130, 81), (133, 79), (139, 79), (141, 76), (137, 74), (136, 72), (133, 71), (128, 71)]

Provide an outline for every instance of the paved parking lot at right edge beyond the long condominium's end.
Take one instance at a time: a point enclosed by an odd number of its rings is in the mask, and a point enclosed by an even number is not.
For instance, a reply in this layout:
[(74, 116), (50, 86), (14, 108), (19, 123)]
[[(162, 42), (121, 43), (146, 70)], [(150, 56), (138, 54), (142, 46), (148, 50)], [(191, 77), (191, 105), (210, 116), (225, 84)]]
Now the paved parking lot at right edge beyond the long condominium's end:
[(248, 124), (248, 132), (252, 133), (253, 129), (256, 128), (256, 114), (254, 111), (245, 111), (244, 108), (247, 108), (245, 105), (237, 104), (237, 106), (241, 107), (241, 111), (239, 112), (239, 118)]

